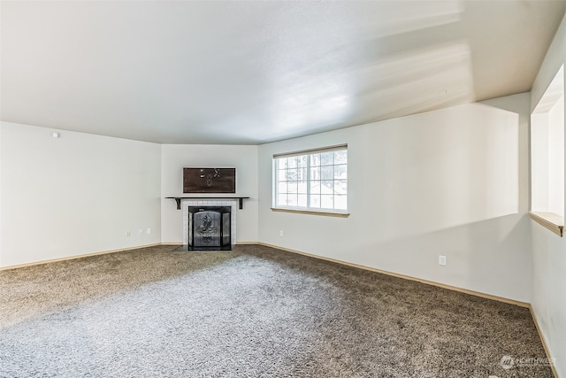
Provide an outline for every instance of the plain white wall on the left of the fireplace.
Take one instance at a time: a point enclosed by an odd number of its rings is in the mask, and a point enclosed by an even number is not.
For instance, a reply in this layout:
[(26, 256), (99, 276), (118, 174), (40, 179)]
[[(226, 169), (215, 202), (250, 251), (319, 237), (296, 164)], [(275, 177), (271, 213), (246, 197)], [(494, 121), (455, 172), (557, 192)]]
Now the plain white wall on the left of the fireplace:
[(0, 266), (160, 242), (160, 145), (1, 127)]

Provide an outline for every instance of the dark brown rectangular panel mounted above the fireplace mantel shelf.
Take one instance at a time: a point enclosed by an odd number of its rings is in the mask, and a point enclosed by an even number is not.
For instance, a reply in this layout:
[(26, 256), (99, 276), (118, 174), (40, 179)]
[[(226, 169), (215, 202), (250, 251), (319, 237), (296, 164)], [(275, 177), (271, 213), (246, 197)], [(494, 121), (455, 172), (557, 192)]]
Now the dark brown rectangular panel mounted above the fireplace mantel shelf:
[(235, 193), (236, 168), (183, 168), (183, 193)]

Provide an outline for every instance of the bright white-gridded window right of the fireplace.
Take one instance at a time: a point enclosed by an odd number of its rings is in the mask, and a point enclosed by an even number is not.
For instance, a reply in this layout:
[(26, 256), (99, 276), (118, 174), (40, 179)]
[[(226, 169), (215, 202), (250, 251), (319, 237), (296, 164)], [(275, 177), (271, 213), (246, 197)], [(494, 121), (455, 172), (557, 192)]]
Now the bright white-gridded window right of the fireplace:
[(275, 208), (346, 212), (348, 146), (273, 156)]

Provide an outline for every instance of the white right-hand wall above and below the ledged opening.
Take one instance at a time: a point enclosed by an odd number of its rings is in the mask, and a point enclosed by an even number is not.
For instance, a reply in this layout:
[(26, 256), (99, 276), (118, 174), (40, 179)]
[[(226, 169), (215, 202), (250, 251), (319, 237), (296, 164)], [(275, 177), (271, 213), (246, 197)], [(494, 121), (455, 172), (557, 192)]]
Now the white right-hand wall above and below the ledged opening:
[[(532, 86), (531, 110), (566, 64), (566, 17)], [(566, 85), (566, 83), (565, 83)], [(562, 101), (563, 97), (562, 97)], [(532, 308), (556, 371), (566, 377), (566, 241), (532, 221)]]

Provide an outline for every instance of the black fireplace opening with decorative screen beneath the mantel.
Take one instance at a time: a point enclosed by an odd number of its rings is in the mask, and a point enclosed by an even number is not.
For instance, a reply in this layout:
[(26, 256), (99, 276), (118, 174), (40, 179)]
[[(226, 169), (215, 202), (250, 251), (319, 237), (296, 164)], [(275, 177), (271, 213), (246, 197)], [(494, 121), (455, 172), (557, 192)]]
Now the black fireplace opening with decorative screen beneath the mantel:
[(188, 249), (230, 251), (232, 206), (188, 206)]

